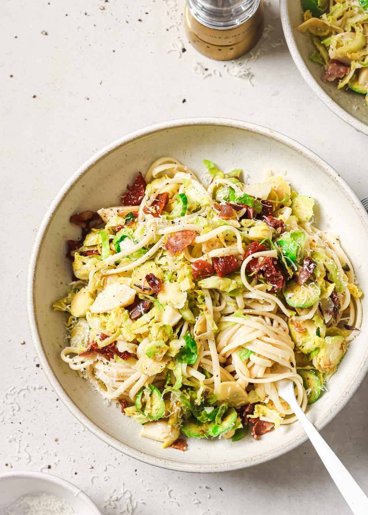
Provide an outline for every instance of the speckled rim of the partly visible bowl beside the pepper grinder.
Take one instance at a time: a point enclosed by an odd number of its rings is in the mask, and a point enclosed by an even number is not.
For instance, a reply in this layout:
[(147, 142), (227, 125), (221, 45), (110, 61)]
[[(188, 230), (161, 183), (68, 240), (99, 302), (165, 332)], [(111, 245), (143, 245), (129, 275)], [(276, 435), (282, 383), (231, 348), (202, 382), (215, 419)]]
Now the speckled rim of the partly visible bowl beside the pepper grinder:
[(368, 125), (360, 122), (355, 116), (349, 114), (345, 109), (339, 106), (337, 102), (332, 100), (332, 98), (327, 95), (327, 93), (321, 88), (320, 84), (315, 80), (313, 75), (308, 70), (307, 65), (304, 62), (304, 59), (299, 53), (298, 47), (295, 42), (295, 38), (293, 35), (293, 28), (290, 23), (289, 18), (289, 10), (288, 10), (288, 0), (280, 0), (280, 18), (283, 34), (285, 36), (287, 45), (289, 47), (289, 51), (291, 57), (293, 58), (296, 67), (298, 68), (300, 75), (307, 82), (309, 87), (313, 90), (313, 92), (319, 97), (320, 100), (335, 114), (337, 114), (344, 122), (354, 127), (355, 130), (361, 132), (368, 136)]

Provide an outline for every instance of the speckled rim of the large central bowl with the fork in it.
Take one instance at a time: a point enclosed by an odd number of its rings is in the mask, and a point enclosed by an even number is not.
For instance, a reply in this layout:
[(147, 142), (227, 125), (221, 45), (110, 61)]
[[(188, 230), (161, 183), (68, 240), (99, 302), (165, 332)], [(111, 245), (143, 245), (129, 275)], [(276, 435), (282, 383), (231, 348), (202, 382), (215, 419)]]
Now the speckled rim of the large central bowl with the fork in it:
[[(169, 470), (177, 470), (179, 472), (222, 472), (222, 471), (230, 471), (241, 469), (245, 467), (251, 467), (254, 465), (258, 465), (265, 461), (269, 461), (274, 459), (282, 454), (285, 454), (297, 445), (300, 445), (304, 441), (307, 440), (307, 436), (300, 431), (300, 434), (293, 438), (291, 441), (287, 443), (283, 443), (280, 447), (277, 448), (276, 452), (273, 449), (272, 451), (268, 451), (260, 454), (259, 456), (246, 458), (246, 459), (237, 459), (228, 462), (220, 462), (218, 464), (189, 464), (183, 463), (181, 461), (176, 461), (173, 459), (165, 459), (159, 458), (156, 456), (152, 456), (146, 452), (139, 451), (137, 449), (131, 448), (129, 445), (121, 442), (120, 440), (112, 437), (107, 432), (105, 432), (102, 428), (100, 428), (95, 422), (93, 422), (89, 417), (87, 417), (81, 409), (77, 407), (77, 405), (72, 401), (72, 399), (68, 396), (63, 386), (57, 379), (52, 367), (49, 365), (46, 354), (42, 347), (41, 338), (38, 332), (37, 320), (35, 315), (35, 275), (36, 268), (38, 262), (38, 255), (41, 250), (43, 238), (47, 232), (48, 226), (54, 217), (55, 213), (58, 210), (58, 207), (65, 195), (69, 193), (73, 185), (76, 181), (81, 178), (91, 166), (93, 166), (98, 160), (104, 158), (108, 153), (114, 151), (121, 145), (131, 143), (133, 141), (137, 141), (140, 138), (143, 138), (149, 134), (153, 134), (156, 132), (162, 132), (173, 128), (179, 127), (188, 127), (188, 126), (216, 126), (216, 127), (229, 127), (235, 129), (242, 129), (254, 134), (266, 136), (267, 138), (271, 138), (287, 147), (296, 150), (300, 155), (304, 156), (308, 160), (315, 163), (317, 166), (323, 169), (324, 173), (328, 175), (332, 180), (334, 180), (345, 196), (349, 199), (349, 201), (353, 204), (353, 207), (360, 215), (363, 226), (368, 234), (368, 214), (364, 210), (362, 203), (357, 198), (353, 190), (348, 186), (348, 184), (340, 177), (340, 175), (322, 158), (317, 156), (314, 152), (309, 150), (304, 145), (297, 143), (296, 141), (289, 138), (284, 134), (276, 132), (272, 129), (262, 127), (257, 124), (243, 122), (236, 119), (230, 118), (220, 118), (220, 117), (190, 117), (190, 118), (179, 118), (174, 119), (172, 121), (161, 122), (158, 124), (150, 125), (148, 127), (138, 129), (136, 131), (130, 132), (125, 136), (115, 140), (109, 145), (105, 146), (102, 150), (97, 151), (94, 155), (88, 159), (85, 163), (83, 163), (75, 173), (68, 179), (64, 185), (61, 187), (59, 193), (56, 195), (51, 205), (47, 209), (43, 220), (41, 222), (40, 229), (37, 233), (36, 240), (34, 243), (34, 247), (31, 252), (29, 268), (28, 268), (28, 277), (27, 277), (27, 313), (28, 313), (28, 322), (30, 326), (31, 337), (34, 342), (34, 346), (36, 349), (37, 356), (39, 358), (41, 367), (49, 381), (51, 383), (54, 391), (57, 393), (59, 399), (63, 402), (63, 404), (71, 411), (71, 413), (76, 417), (76, 419), (84, 425), (91, 433), (97, 436), (99, 439), (111, 445), (114, 449), (126, 454), (131, 458), (138, 459), (140, 461), (145, 462), (149, 465), (154, 465), (157, 467), (169, 469)], [(332, 420), (334, 416), (336, 416), (339, 411), (345, 406), (350, 397), (352, 397), (353, 393), (356, 391), (360, 383), (362, 382), (365, 373), (368, 370), (368, 359), (366, 359), (363, 366), (360, 366), (356, 371), (352, 381), (346, 388), (348, 391), (347, 394), (341, 395), (339, 401), (334, 404), (327, 413), (317, 421), (315, 424), (318, 430), (321, 430), (328, 422)]]

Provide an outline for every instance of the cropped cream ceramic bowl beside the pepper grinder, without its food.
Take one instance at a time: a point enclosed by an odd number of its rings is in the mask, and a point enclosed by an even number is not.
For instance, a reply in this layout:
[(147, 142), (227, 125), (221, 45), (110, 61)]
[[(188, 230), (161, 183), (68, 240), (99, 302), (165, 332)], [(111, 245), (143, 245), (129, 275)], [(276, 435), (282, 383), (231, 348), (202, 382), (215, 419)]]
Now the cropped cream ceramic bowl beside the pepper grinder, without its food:
[(280, 0), (280, 16), (291, 56), (309, 87), (344, 122), (368, 135), (368, 106), (364, 95), (346, 89), (338, 90), (336, 81), (325, 84), (321, 80), (322, 66), (309, 60), (309, 55), (315, 50), (309, 32), (302, 34), (295, 30), (303, 21), (300, 0)]

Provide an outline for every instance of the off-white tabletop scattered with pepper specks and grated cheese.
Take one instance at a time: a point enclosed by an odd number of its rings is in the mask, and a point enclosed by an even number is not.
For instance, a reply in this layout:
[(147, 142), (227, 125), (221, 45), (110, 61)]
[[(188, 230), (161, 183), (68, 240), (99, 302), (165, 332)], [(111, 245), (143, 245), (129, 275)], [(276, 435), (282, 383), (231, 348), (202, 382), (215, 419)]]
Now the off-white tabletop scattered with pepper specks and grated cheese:
[[(38, 366), (25, 307), (31, 245), (64, 181), (119, 136), (165, 119), (241, 118), (303, 143), (360, 198), (368, 195), (368, 140), (333, 115), (299, 76), (276, 0), (266, 5), (266, 30), (253, 57), (237, 67), (195, 52), (182, 10), (181, 0), (2, 3), (0, 472), (46, 471), (69, 479), (105, 515), (348, 514), (309, 443), (252, 469), (160, 470), (84, 430)], [(322, 431), (365, 491), (367, 398), (366, 379)]]

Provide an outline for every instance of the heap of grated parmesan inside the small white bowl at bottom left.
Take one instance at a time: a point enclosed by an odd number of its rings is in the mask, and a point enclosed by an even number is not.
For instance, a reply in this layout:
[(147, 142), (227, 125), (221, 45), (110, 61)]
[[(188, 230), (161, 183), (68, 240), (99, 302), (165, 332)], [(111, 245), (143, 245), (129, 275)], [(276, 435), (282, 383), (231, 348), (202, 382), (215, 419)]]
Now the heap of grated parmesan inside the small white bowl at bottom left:
[(74, 510), (68, 501), (51, 493), (22, 495), (8, 508), (6, 515), (73, 515)]

